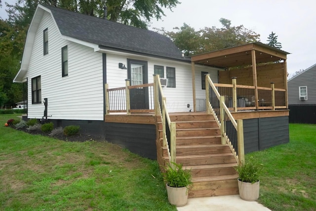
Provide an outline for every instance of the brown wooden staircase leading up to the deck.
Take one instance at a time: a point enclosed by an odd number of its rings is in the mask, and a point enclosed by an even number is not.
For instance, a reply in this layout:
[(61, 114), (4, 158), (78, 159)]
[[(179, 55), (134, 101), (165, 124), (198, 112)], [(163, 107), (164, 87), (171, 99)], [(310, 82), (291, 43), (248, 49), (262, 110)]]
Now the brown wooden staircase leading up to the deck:
[[(230, 147), (221, 144), (220, 129), (214, 116), (205, 112), (170, 113), (176, 122), (176, 162), (192, 170), (189, 198), (238, 194), (237, 161)], [(160, 120), (161, 121), (161, 120)], [(162, 124), (157, 123), (158, 163), (169, 162), (163, 148)]]

